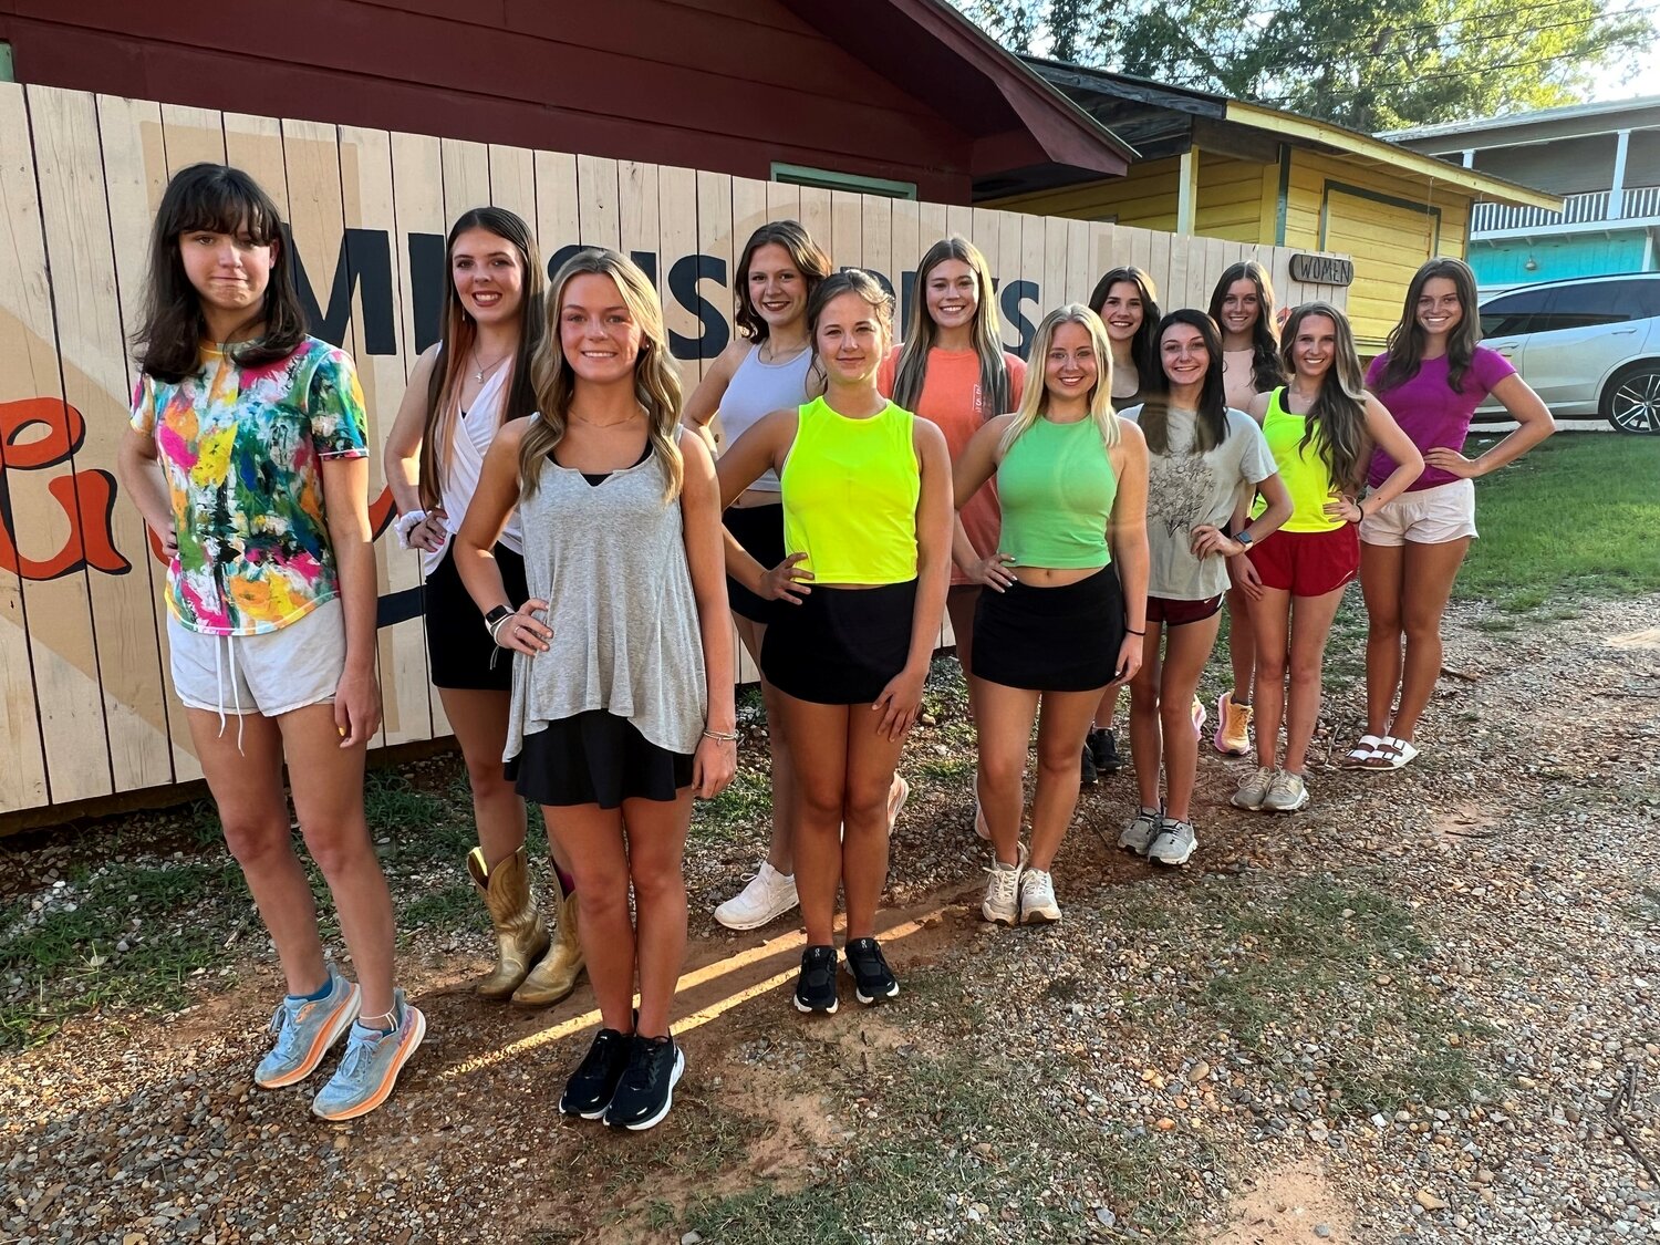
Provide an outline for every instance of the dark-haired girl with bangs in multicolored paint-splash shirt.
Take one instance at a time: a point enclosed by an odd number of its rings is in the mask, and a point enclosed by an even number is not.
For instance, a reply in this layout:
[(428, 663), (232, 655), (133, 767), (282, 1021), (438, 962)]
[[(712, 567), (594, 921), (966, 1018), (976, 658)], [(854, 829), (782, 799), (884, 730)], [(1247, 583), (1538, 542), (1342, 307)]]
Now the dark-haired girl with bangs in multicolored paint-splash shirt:
[[(364, 820), (380, 727), (364, 395), (305, 335), (271, 198), (241, 169), (168, 184), (149, 247), (139, 382), (118, 470), (173, 561), (173, 686), (287, 998), (254, 1084), (292, 1086), (347, 1034), (312, 1111), (374, 1111), (427, 1031), (392, 984), (392, 896)], [(234, 724), (229, 720), (234, 717)], [(359, 983), (324, 959), (282, 765)]]

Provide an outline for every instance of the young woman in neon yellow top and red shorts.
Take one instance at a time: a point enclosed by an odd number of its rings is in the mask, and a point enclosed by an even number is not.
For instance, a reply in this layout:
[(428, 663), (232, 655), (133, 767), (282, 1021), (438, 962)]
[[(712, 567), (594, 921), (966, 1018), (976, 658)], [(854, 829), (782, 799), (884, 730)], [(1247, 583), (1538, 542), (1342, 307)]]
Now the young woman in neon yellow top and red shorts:
[[(1257, 772), (1233, 793), (1238, 808), (1290, 813), (1308, 803), (1308, 740), (1320, 715), (1320, 667), (1348, 581), (1360, 571), (1355, 525), (1386, 506), (1423, 470), (1423, 458), (1378, 398), (1361, 387), (1348, 319), (1326, 302), (1305, 302), (1285, 324), (1291, 380), (1252, 398), (1291, 518), (1248, 549), (1257, 571)], [(1398, 466), (1358, 498), (1371, 448)], [(1286, 661), (1290, 649), (1290, 661)], [(1286, 697), (1286, 669), (1291, 687)], [(1280, 720), (1285, 719), (1285, 760)]]

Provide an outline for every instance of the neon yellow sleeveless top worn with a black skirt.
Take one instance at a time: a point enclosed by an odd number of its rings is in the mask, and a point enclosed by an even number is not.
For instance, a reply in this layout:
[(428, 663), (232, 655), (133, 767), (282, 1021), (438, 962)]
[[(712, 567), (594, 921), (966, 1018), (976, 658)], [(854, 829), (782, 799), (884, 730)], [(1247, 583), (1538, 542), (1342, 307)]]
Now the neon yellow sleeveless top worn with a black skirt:
[(822, 584), (898, 584), (916, 578), (916, 501), (923, 476), (908, 410), (891, 402), (865, 420), (822, 397), (797, 410), (784, 460), (784, 551)]

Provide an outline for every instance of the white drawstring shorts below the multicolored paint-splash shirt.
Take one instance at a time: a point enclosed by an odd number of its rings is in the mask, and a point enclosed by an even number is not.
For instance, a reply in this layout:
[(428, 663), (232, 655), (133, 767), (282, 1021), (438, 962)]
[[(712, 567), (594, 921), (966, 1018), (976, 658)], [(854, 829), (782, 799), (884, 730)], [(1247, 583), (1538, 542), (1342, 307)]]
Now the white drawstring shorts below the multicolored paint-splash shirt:
[(345, 614), (339, 598), (262, 636), (204, 636), (168, 614), (173, 686), (191, 709), (221, 719), (279, 717), (334, 701), (345, 671)]

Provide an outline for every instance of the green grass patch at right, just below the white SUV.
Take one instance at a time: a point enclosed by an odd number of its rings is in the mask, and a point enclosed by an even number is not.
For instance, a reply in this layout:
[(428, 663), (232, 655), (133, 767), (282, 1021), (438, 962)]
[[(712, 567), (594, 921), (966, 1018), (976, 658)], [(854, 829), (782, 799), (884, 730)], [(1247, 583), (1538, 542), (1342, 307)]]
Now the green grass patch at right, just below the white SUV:
[[(1466, 453), (1489, 445), (1472, 438)], [(1481, 540), (1454, 591), (1509, 613), (1660, 591), (1655, 480), (1660, 437), (1552, 437), (1476, 485)]]

